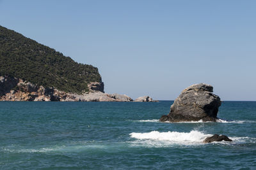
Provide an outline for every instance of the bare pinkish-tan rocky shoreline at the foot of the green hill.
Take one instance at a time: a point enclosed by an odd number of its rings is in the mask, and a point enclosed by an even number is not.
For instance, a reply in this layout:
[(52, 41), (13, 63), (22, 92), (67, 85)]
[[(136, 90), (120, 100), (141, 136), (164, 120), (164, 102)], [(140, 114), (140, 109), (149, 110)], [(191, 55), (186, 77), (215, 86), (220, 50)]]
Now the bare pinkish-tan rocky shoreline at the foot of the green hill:
[(133, 101), (126, 95), (104, 93), (104, 83), (89, 83), (88, 89), (90, 92), (75, 94), (54, 87), (38, 87), (20, 78), (0, 76), (0, 101)]

